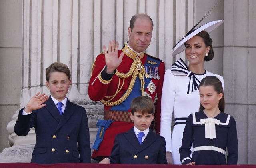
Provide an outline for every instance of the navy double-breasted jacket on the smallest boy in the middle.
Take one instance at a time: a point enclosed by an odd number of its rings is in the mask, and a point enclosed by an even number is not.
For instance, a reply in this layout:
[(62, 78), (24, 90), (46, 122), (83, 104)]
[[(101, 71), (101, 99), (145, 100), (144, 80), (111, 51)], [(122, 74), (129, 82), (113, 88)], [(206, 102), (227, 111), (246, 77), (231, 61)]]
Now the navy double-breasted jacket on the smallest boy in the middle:
[(134, 129), (118, 134), (108, 157), (110, 163), (121, 164), (167, 164), (165, 139), (149, 130), (146, 138), (139, 143)]

